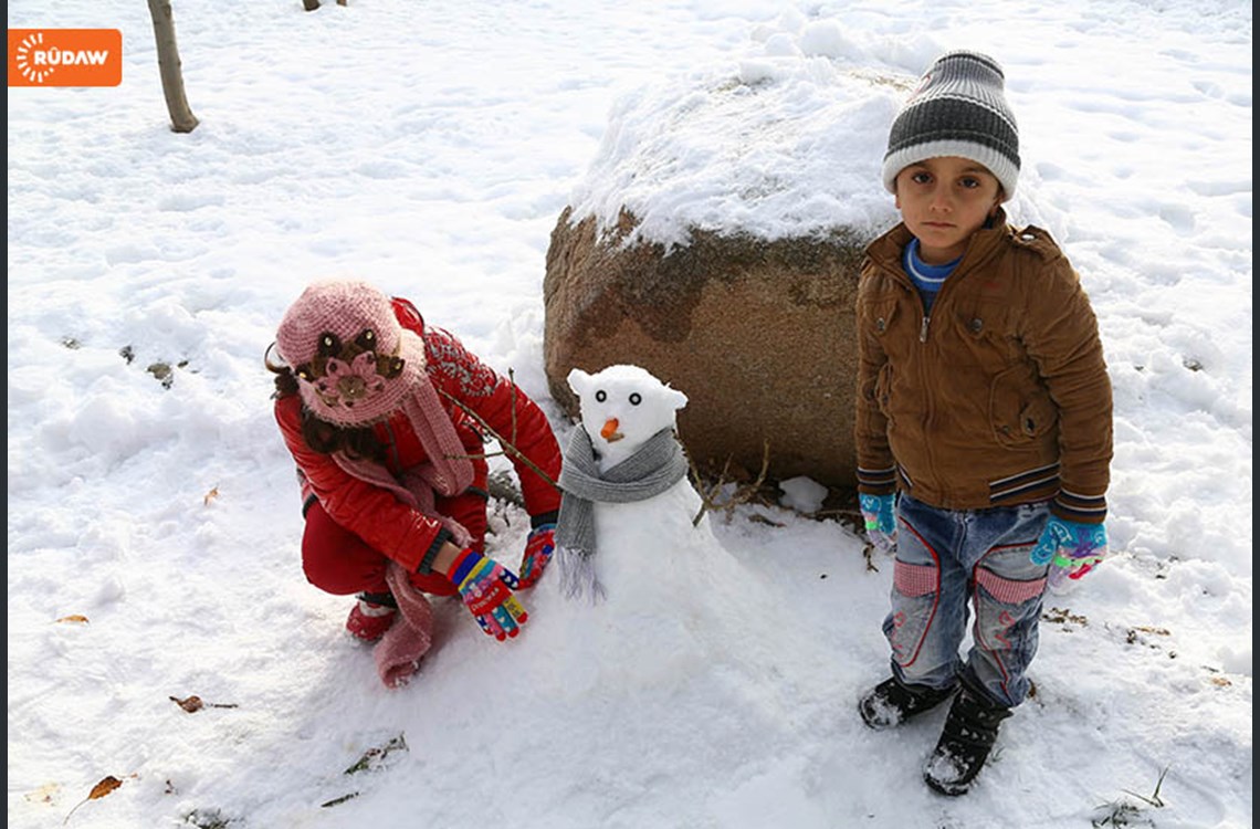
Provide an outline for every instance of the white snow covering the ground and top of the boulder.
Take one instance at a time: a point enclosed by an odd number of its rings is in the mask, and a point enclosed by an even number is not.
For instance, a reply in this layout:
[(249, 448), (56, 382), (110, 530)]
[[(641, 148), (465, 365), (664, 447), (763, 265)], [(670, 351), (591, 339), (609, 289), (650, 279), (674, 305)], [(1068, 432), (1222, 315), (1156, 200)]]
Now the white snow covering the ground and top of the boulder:
[[(10, 29), (118, 28), (125, 44), (121, 87), (9, 92), (11, 829), (1251, 825), (1250, 3), (174, 15), (189, 135), (168, 129), (144, 4), (8, 5)], [(262, 355), (306, 281), (410, 296), (563, 435), (542, 280), (566, 205), (598, 213), (620, 192), (667, 241), (687, 220), (891, 222), (874, 170), (895, 98), (838, 121), (844, 141), (819, 111), (853, 72), (908, 82), (953, 48), (1007, 68), (1013, 218), (1081, 272), (1116, 393), (1115, 557), (1047, 602), (1037, 694), (980, 785), (944, 800), (921, 784), (942, 712), (862, 726), (891, 561), (868, 568), (843, 524), (786, 508), (716, 520), (753, 609), (717, 632), (747, 650), (660, 670), (573, 659), (582, 631), (544, 621), (561, 601), (544, 580), (524, 596), (536, 627), (507, 644), (440, 605), (440, 649), (382, 687), (341, 629), (348, 600), (301, 576), (270, 411)], [(738, 141), (656, 136), (687, 139), (674, 175), (636, 170), (649, 116), (680, 91), (716, 112), (699, 91), (721, 78), (760, 84), (764, 121)], [(660, 186), (610, 183), (627, 170)], [(735, 197), (767, 180), (788, 195)], [(514, 563), (524, 517), (500, 505), (493, 527)], [(636, 653), (659, 632), (621, 624)], [(190, 695), (223, 707), (171, 699)]]

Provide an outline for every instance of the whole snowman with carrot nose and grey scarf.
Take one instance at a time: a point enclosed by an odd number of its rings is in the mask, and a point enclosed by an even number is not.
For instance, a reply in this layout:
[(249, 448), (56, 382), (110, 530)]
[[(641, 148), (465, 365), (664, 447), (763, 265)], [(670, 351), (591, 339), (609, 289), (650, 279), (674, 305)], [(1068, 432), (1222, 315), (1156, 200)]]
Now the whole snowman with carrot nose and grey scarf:
[(567, 379), (581, 422), (559, 477), (559, 578), (544, 591), (563, 607), (541, 609), (538, 621), (566, 626), (568, 653), (592, 670), (635, 684), (724, 661), (732, 649), (736, 661), (752, 656), (760, 580), (717, 540), (688, 480), (675, 432), (687, 396), (638, 365)]

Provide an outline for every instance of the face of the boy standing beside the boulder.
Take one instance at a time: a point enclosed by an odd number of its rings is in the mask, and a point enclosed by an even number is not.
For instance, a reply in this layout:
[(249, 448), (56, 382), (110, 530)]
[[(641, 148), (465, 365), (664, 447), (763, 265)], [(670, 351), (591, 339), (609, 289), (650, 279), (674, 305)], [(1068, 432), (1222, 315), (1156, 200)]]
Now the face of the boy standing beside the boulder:
[(929, 265), (963, 256), (966, 241), (1002, 204), (997, 176), (958, 156), (916, 161), (897, 174), (896, 186), (901, 220)]

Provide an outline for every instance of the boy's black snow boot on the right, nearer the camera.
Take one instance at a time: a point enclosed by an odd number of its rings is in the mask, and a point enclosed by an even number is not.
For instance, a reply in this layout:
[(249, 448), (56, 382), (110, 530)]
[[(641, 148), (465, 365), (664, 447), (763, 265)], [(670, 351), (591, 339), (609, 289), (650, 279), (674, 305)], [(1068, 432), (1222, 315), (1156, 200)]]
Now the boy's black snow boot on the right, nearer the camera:
[(963, 688), (945, 718), (936, 750), (924, 766), (924, 781), (942, 795), (964, 795), (975, 782), (1011, 709)]

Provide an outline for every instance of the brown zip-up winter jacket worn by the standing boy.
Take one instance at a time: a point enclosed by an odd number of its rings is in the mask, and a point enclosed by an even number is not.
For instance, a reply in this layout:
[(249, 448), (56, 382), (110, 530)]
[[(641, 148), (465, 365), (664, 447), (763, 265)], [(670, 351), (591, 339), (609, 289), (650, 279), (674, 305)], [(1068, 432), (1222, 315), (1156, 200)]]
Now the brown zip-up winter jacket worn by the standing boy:
[(910, 239), (898, 224), (872, 242), (858, 283), (859, 491), (961, 510), (1053, 499), (1101, 523), (1111, 383), (1071, 263), (999, 212), (929, 317), (901, 265)]

